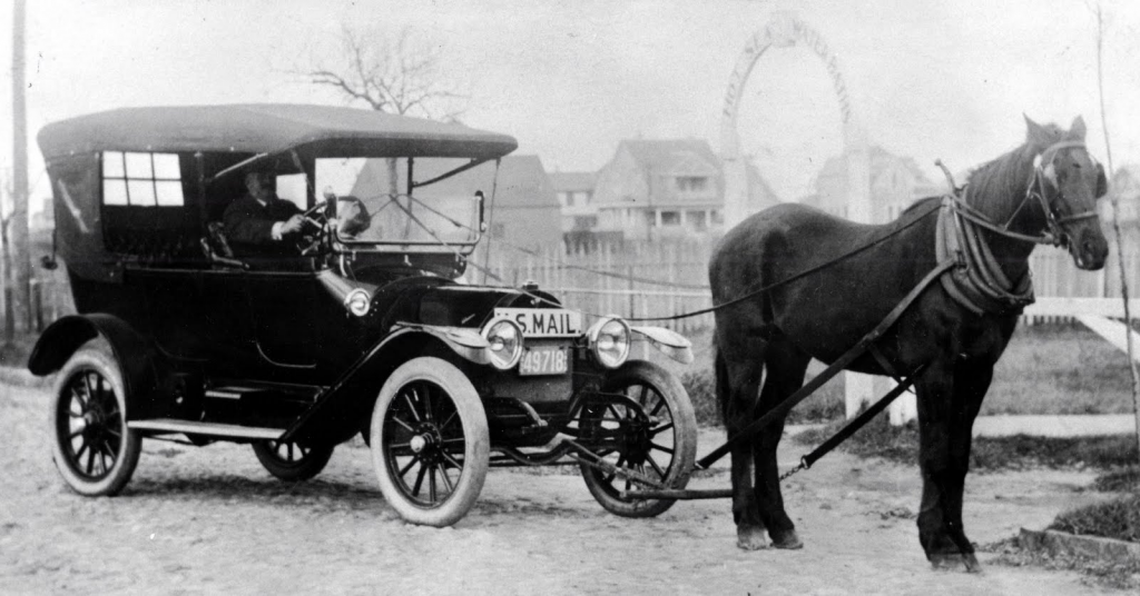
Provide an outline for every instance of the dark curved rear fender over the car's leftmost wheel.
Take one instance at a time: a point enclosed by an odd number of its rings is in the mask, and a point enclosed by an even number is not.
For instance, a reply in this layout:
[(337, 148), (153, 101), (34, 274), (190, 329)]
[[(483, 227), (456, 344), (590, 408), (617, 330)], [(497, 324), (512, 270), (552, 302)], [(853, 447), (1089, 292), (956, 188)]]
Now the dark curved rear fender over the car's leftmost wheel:
[[(70, 315), (44, 329), (35, 342), (27, 369), (44, 376), (59, 370), (84, 343), (103, 337), (123, 375), (128, 405), (152, 397), (158, 386), (154, 351), (130, 325), (112, 315)], [(138, 408), (130, 408), (138, 414)], [(135, 417), (135, 416), (131, 416)]]

